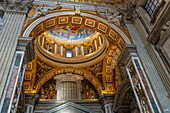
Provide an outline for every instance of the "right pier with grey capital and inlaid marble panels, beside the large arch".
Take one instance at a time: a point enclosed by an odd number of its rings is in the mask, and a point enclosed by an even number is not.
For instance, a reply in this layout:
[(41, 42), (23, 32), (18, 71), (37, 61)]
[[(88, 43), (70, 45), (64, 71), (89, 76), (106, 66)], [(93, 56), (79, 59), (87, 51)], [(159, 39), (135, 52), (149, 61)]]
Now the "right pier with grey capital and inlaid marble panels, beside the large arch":
[[(127, 54), (128, 53), (128, 54)], [(140, 112), (161, 113), (155, 95), (138, 58), (136, 46), (125, 45), (118, 58), (122, 78), (128, 75)]]

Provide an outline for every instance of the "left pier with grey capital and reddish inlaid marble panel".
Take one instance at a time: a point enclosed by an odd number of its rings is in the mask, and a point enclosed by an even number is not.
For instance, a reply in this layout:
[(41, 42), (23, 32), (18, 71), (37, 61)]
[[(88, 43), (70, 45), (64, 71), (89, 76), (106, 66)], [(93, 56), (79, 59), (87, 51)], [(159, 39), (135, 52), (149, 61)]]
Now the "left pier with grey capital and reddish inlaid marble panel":
[(25, 64), (34, 59), (33, 38), (18, 38), (15, 56), (0, 104), (0, 112), (17, 112)]

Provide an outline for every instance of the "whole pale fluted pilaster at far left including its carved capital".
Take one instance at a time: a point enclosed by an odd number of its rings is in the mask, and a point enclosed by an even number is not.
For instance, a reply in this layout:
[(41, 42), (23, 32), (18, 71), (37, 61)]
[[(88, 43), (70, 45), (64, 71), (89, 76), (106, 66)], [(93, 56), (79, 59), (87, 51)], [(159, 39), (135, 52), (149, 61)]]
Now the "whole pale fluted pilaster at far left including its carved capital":
[[(17, 46), (17, 38), (21, 34), (23, 28), (26, 13), (29, 11), (28, 6), (20, 1), (21, 5), (18, 5), (18, 2), (11, 2), (10, 4), (4, 5), (5, 14), (4, 14), (4, 24), (1, 29), (0, 34), (0, 99), (2, 99), (2, 94), (5, 84), (7, 81), (8, 74), (11, 70), (11, 65), (15, 55), (15, 50)], [(29, 5), (29, 3), (27, 3)], [(23, 6), (24, 5), (24, 6)], [(0, 102), (1, 103), (1, 102)], [(0, 106), (2, 107), (2, 106)]]

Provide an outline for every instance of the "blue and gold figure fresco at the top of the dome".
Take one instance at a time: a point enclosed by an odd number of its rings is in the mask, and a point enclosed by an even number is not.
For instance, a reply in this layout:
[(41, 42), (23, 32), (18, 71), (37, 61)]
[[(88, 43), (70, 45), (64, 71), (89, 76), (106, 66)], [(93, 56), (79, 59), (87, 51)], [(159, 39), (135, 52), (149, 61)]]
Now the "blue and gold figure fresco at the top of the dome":
[(95, 31), (78, 26), (63, 26), (47, 31), (49, 34), (67, 40), (79, 40), (92, 35)]

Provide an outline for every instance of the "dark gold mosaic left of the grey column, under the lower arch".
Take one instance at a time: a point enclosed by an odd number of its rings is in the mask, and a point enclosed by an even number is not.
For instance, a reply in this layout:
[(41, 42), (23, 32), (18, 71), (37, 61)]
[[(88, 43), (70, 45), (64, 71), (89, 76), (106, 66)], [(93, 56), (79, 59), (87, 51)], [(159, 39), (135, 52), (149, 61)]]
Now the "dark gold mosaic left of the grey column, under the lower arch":
[(53, 78), (46, 82), (40, 89), (40, 99), (56, 99), (56, 80)]

